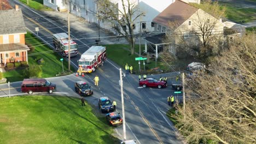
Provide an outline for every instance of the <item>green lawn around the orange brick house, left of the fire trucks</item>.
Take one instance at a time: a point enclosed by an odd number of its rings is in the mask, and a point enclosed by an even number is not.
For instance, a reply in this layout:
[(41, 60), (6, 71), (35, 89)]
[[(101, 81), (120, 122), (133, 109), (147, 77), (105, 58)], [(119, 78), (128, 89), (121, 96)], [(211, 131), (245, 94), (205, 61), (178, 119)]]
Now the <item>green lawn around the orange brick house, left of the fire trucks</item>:
[[(52, 50), (48, 46), (42, 43), (42, 41), (39, 39), (35, 38), (31, 33), (27, 33), (25, 38), (26, 44), (30, 44), (35, 48), (34, 51), (28, 51), (28, 64), (38, 65), (36, 60), (39, 58), (44, 59), (44, 63), (42, 64), (42, 77), (54, 77), (56, 74), (62, 72), (62, 64), (60, 61), (60, 58), (62, 57), (60, 55), (55, 52), (51, 52)], [(42, 53), (46, 51), (48, 51), (48, 53)], [(67, 61), (63, 61), (63, 67), (64, 71), (68, 70)], [(73, 67), (71, 67), (71, 70), (74, 70)], [(3, 73), (3, 75), (5, 78), (7, 78), (7, 81), (10, 82), (21, 81), (24, 79), (22, 69), (10, 70)]]

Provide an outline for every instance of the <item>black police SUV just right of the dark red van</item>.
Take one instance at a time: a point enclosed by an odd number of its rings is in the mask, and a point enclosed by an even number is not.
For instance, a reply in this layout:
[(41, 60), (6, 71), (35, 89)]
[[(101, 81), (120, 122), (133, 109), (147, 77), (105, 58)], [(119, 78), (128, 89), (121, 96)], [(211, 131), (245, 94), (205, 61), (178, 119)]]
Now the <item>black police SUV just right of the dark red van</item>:
[(94, 91), (92, 91), (90, 85), (85, 81), (77, 81), (75, 82), (75, 92), (79, 93), (82, 96), (92, 95)]

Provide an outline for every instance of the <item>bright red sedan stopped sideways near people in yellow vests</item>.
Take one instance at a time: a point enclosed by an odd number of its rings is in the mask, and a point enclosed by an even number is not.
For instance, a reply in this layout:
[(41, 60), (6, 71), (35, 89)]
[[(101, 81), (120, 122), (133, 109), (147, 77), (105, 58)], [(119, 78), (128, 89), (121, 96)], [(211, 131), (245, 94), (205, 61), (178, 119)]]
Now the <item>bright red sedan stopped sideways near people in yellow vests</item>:
[(139, 81), (139, 86), (162, 88), (162, 87), (167, 87), (167, 83), (164, 82), (164, 81), (158, 81), (158, 80), (153, 79), (153, 78), (148, 78), (146, 80)]

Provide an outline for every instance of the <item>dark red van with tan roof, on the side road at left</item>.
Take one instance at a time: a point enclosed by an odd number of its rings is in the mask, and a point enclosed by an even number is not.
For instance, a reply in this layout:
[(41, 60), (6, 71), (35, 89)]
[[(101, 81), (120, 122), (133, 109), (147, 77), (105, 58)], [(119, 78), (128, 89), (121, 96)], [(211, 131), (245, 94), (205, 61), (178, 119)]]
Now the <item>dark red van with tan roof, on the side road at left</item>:
[(33, 92), (53, 93), (56, 85), (45, 79), (24, 79), (21, 84), (21, 92), (32, 94)]

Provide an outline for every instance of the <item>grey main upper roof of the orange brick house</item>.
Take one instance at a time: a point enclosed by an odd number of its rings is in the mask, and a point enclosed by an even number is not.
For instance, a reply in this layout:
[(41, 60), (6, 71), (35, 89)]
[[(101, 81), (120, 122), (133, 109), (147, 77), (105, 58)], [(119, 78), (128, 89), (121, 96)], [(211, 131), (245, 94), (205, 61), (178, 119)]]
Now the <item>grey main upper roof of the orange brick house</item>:
[(0, 35), (26, 33), (21, 9), (0, 10)]

